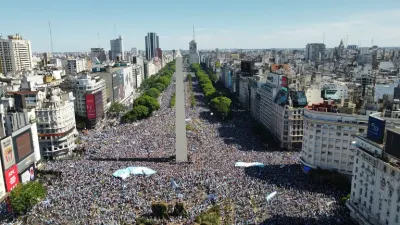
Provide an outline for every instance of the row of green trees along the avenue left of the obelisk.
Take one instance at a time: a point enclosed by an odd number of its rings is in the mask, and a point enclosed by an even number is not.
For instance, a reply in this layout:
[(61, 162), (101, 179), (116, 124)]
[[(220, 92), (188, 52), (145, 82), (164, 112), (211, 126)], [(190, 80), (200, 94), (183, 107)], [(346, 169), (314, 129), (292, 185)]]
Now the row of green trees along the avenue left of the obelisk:
[(175, 71), (175, 61), (168, 63), (156, 75), (144, 80), (140, 85), (142, 95), (135, 100), (133, 108), (122, 116), (124, 123), (132, 123), (147, 118), (160, 108), (157, 98), (171, 83)]

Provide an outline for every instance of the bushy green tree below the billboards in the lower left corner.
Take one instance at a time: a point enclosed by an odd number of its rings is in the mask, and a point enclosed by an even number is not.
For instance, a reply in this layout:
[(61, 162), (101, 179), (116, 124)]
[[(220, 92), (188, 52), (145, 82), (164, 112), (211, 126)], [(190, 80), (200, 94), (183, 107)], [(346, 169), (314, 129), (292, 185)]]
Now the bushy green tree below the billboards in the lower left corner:
[(37, 181), (20, 183), (11, 191), (11, 206), (18, 215), (24, 214), (46, 197), (46, 194), (46, 188)]

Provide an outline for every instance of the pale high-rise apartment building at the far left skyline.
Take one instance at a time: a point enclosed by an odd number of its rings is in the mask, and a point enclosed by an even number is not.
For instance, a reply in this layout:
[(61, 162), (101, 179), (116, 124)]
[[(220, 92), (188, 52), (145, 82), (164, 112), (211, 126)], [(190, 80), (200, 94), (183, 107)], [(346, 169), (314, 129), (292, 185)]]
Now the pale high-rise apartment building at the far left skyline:
[(32, 69), (31, 42), (19, 34), (9, 35), (8, 39), (0, 35), (0, 60), (3, 74)]

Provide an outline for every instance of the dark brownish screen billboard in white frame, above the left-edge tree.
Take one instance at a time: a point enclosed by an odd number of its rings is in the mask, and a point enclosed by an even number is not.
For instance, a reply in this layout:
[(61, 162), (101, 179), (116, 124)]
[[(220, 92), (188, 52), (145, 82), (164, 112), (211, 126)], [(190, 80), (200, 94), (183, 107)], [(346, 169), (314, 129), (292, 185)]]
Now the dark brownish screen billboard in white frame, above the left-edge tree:
[(12, 134), (16, 163), (21, 162), (34, 152), (31, 127), (27, 128), (22, 132), (19, 130)]

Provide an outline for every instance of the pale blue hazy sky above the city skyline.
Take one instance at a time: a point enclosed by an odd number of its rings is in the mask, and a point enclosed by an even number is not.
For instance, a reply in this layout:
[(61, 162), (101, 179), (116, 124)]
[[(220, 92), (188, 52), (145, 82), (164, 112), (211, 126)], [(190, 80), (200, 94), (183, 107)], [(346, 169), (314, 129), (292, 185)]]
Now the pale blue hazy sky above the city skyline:
[[(156, 32), (165, 50), (304, 48), (323, 42), (400, 47), (399, 0), (20, 0), (1, 4), (0, 33), (19, 33), (33, 52), (88, 52), (123, 36), (126, 51), (144, 49)], [(115, 28), (114, 29), (114, 21)], [(115, 32), (116, 31), (116, 32)], [(324, 37), (325, 33), (325, 39)]]

